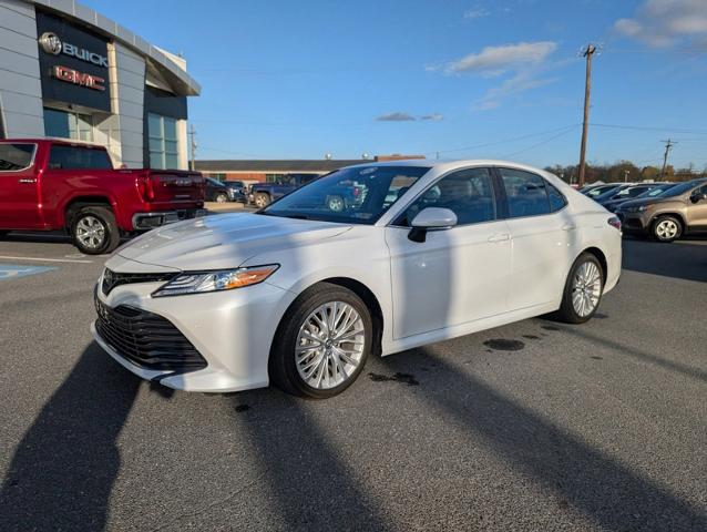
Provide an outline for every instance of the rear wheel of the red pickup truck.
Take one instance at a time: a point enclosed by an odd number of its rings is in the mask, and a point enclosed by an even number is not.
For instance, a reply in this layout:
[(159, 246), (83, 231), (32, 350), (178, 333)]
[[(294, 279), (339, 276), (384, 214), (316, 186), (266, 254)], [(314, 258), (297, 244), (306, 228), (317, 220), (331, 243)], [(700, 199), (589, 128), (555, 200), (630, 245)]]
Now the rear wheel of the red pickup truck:
[(86, 255), (111, 253), (121, 241), (113, 212), (107, 207), (83, 207), (71, 221), (73, 245)]

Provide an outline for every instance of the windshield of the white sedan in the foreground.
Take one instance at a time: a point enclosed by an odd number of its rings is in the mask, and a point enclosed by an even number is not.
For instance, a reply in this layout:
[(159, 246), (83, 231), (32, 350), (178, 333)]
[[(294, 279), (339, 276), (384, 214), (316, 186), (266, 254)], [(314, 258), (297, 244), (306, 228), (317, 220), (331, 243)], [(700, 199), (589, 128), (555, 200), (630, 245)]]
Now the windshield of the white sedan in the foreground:
[(352, 166), (334, 172), (260, 211), (346, 224), (375, 224), (429, 166)]

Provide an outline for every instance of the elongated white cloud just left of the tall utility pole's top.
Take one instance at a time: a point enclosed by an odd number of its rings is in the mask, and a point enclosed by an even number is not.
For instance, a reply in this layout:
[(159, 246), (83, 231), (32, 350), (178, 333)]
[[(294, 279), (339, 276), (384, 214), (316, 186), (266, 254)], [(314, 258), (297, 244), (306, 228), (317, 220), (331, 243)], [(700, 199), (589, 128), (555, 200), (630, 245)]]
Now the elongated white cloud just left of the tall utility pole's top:
[(552, 41), (486, 47), (479, 53), (470, 53), (449, 63), (447, 71), (452, 73), (485, 72), (496, 75), (511, 69), (518, 70), (526, 66), (529, 63), (542, 63), (556, 49), (557, 44)]

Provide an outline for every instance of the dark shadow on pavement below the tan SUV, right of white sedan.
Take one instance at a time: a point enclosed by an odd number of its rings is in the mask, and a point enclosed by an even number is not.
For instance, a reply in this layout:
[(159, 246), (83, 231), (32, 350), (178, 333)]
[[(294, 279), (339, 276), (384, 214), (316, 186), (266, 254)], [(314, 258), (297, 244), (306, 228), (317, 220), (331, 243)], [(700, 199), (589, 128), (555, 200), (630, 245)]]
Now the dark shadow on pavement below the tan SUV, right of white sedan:
[[(655, 248), (664, 252), (664, 260), (655, 260)], [(677, 279), (707, 283), (707, 247), (685, 244), (624, 239), (623, 269)]]

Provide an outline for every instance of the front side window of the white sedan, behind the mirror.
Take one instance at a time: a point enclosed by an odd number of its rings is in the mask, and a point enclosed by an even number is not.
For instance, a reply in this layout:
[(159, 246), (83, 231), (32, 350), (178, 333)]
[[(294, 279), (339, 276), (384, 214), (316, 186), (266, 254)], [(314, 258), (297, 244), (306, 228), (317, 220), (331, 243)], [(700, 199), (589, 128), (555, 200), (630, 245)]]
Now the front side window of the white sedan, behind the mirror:
[(495, 219), (491, 171), (468, 168), (442, 177), (406, 209), (396, 225), (410, 226), (412, 219), (426, 207), (449, 208), (457, 215), (458, 225)]

